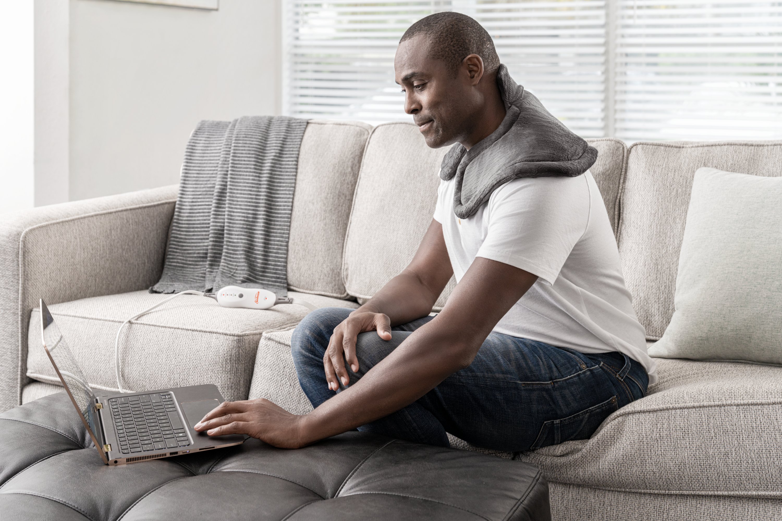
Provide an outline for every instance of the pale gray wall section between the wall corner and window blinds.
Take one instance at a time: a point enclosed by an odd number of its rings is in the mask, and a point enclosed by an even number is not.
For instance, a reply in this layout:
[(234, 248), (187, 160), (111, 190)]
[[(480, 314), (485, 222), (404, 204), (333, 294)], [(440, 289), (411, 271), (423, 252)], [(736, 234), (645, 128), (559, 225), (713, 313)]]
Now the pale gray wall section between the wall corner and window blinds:
[(199, 120), (279, 114), (280, 1), (70, 0), (70, 200), (177, 183)]

